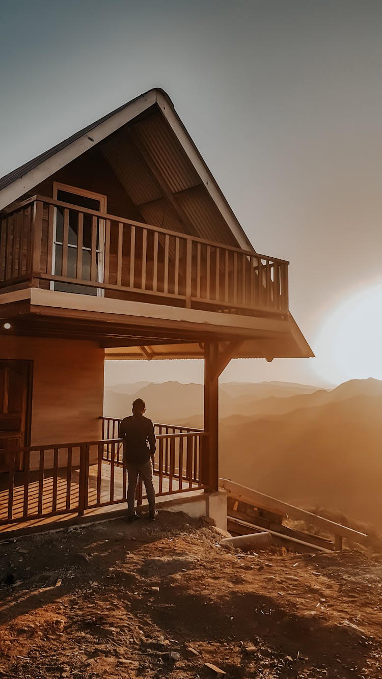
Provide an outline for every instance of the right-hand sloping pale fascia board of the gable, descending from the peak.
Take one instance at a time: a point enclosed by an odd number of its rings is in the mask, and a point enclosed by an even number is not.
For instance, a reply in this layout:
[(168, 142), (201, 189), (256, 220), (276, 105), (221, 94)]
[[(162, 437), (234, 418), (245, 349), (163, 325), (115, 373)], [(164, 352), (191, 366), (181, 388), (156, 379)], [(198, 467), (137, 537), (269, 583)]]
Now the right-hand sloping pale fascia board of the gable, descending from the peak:
[(195, 151), (193, 142), (191, 141), (189, 135), (185, 133), (183, 125), (179, 122), (178, 115), (176, 115), (174, 109), (169, 105), (168, 100), (163, 94), (161, 94), (161, 92), (158, 92), (157, 94), (157, 105), (161, 109), (164, 117), (170, 125), (170, 128), (172, 128), (172, 131), (176, 134), (176, 137), (180, 141), (180, 144), (182, 145), (187, 157), (193, 164), (197, 174), (202, 180), (212, 200), (216, 204), (216, 207), (231, 229), (233, 236), (235, 236), (237, 242), (240, 244), (240, 247), (242, 247), (244, 250), (253, 250), (253, 245), (242, 230), (242, 227), (238, 222), (235, 221), (235, 219), (233, 219), (231, 208), (229, 208), (228, 203), (222, 197), (221, 191), (218, 188), (214, 177), (212, 177), (206, 164), (200, 158), (199, 153)]

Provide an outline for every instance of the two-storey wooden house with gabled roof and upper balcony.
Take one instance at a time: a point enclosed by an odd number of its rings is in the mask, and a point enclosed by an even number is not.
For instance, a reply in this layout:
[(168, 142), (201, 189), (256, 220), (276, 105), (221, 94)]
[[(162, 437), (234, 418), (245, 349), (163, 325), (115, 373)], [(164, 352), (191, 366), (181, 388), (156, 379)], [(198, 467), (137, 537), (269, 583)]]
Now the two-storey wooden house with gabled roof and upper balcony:
[(105, 359), (204, 359), (204, 430), (158, 426), (155, 473), (159, 495), (216, 492), (221, 371), (313, 354), (288, 262), (254, 250), (168, 95), (0, 179), (0, 219), (0, 521), (123, 501)]

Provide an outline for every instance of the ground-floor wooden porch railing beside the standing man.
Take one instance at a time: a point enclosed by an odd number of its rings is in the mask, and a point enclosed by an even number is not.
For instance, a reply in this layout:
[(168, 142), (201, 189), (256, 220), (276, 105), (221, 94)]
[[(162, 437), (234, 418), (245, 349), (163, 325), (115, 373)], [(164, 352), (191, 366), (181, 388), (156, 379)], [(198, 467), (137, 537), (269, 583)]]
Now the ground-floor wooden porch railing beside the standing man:
[[(165, 426), (165, 425), (162, 425)], [(203, 488), (205, 433), (157, 436), (157, 496)], [(58, 443), (9, 450), (0, 472), (0, 525), (77, 513), (126, 502), (127, 473), (121, 439)], [(138, 483), (136, 498), (144, 497)]]

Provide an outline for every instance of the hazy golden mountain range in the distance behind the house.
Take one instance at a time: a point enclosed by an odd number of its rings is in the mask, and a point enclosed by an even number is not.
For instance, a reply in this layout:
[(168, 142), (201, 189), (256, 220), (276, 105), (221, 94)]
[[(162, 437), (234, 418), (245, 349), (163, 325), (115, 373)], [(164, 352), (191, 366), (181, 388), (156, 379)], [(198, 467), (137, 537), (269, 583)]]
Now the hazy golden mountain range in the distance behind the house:
[[(332, 389), (283, 382), (222, 384), (220, 475), (308, 509), (337, 511), (382, 530), (382, 382)], [(156, 422), (203, 426), (203, 387), (118, 385), (104, 414), (145, 399)]]

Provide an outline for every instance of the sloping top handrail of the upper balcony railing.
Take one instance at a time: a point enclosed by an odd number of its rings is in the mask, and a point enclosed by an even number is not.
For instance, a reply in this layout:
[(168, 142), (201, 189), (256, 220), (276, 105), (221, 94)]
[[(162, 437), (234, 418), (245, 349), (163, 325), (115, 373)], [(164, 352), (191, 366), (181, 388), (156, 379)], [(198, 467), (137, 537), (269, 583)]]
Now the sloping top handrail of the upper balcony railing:
[(44, 203), (48, 203), (50, 205), (54, 205), (56, 207), (62, 207), (62, 208), (67, 208), (69, 210), (77, 210), (78, 212), (85, 213), (87, 215), (93, 215), (94, 217), (100, 217), (100, 219), (109, 219), (111, 221), (117, 221), (122, 224), (128, 224), (130, 226), (137, 226), (140, 228), (147, 229), (149, 231), (155, 231), (159, 234), (164, 234), (165, 236), (175, 236), (176, 238), (183, 238), (183, 240), (191, 240), (192, 242), (197, 242), (197, 243), (202, 243), (204, 245), (209, 245), (213, 248), (220, 248), (222, 250), (228, 250), (231, 252), (237, 252), (240, 253), (241, 255), (247, 255), (248, 257), (253, 257), (254, 259), (267, 259), (268, 261), (272, 262), (278, 262), (280, 264), (289, 264), (289, 261), (286, 259), (280, 259), (279, 257), (271, 257), (271, 255), (261, 255), (260, 253), (257, 253), (255, 250), (243, 250), (242, 248), (235, 247), (233, 245), (225, 245), (223, 243), (218, 243), (210, 240), (205, 240), (204, 238), (197, 238), (196, 236), (189, 236), (189, 234), (182, 234), (177, 231), (170, 231), (166, 229), (162, 229), (159, 226), (153, 226), (151, 224), (145, 224), (140, 221), (134, 221), (132, 219), (127, 219), (126, 217), (118, 217), (117, 215), (110, 215), (109, 213), (101, 213), (97, 212), (96, 210), (90, 210), (90, 208), (83, 208), (78, 205), (73, 205), (71, 203), (66, 203), (62, 202), (62, 200), (54, 200), (54, 198), (49, 198), (48, 196), (41, 196), (41, 194), (36, 194), (35, 196), (32, 196), (31, 198), (27, 198), (23, 202), (19, 203), (17, 208), (14, 208), (14, 210), (10, 210), (7, 215), (12, 215), (12, 213), (17, 212), (20, 210), (22, 207), (26, 207), (29, 204), (32, 204), (36, 200), (39, 200)]

